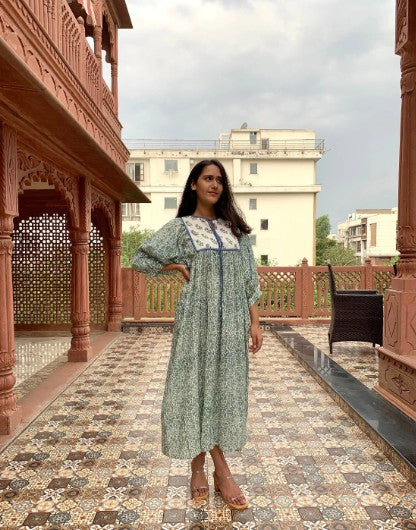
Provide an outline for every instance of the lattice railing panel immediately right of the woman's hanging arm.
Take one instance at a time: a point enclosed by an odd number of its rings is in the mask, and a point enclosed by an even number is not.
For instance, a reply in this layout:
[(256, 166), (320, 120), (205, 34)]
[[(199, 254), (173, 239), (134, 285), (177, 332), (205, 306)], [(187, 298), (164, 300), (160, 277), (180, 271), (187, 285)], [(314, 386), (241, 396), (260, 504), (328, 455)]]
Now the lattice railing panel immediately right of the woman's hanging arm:
[(285, 316), (295, 311), (296, 275), (289, 271), (259, 272), (261, 314)]

